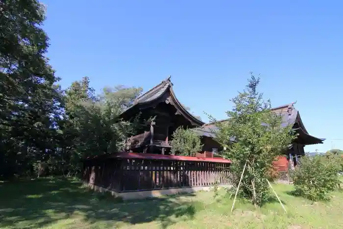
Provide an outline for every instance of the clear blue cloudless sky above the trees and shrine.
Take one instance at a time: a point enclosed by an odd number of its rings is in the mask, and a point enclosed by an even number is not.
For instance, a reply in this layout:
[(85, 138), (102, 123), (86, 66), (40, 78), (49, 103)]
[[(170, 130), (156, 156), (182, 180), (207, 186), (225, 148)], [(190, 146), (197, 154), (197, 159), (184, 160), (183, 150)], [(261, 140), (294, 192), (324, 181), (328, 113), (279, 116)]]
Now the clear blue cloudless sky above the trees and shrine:
[(296, 102), (305, 151), (343, 149), (343, 1), (43, 0), (50, 64), (66, 88), (145, 90), (172, 75), (178, 99), (206, 121), (231, 109), (249, 72), (273, 106)]

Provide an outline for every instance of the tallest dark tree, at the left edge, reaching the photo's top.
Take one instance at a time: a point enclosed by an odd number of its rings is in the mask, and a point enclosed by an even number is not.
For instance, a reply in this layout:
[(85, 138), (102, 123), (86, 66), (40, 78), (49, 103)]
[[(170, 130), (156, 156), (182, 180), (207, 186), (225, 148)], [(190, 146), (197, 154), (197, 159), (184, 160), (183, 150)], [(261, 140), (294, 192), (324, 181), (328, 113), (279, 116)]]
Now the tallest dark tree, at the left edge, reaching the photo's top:
[(37, 0), (0, 1), (0, 175), (25, 173), (56, 147), (63, 104), (44, 20)]

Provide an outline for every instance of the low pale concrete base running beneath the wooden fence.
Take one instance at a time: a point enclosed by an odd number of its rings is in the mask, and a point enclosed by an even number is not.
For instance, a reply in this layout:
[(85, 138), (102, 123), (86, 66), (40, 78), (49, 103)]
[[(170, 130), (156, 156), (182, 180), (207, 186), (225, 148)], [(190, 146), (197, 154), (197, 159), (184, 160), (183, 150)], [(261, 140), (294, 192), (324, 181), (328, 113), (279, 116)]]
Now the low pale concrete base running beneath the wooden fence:
[[(112, 196), (122, 198), (123, 200), (146, 199), (151, 197), (160, 197), (165, 195), (174, 195), (182, 193), (193, 193), (197, 191), (210, 191), (212, 186), (205, 187), (185, 187), (185, 188), (171, 188), (162, 190), (139, 191), (139, 192), (125, 192), (117, 193), (107, 188), (99, 187), (95, 184), (84, 182), (84, 185), (98, 192), (110, 192)], [(230, 187), (230, 185), (220, 185), (220, 187)]]

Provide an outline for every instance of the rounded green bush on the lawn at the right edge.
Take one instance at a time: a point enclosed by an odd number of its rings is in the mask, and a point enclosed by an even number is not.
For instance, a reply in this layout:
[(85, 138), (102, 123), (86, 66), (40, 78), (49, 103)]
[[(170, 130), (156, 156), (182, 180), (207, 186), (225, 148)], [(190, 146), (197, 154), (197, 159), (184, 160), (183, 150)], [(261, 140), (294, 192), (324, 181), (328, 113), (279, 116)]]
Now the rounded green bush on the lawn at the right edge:
[(341, 159), (335, 154), (302, 156), (291, 177), (295, 194), (312, 201), (328, 200), (341, 183), (338, 172)]

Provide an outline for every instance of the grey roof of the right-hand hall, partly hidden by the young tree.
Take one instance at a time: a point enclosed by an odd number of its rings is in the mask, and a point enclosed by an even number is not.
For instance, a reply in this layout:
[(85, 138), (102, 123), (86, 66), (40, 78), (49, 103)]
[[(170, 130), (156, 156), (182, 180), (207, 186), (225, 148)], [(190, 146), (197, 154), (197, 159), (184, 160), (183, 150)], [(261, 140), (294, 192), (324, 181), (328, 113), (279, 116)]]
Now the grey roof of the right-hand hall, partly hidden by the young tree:
[[(271, 108), (272, 112), (274, 112), (276, 114), (281, 114), (281, 116), (282, 116), (281, 127), (287, 127), (288, 125), (294, 126), (297, 123), (298, 125), (296, 128), (294, 128), (294, 130), (296, 131), (296, 133), (299, 134), (300, 138), (302, 138), (304, 141), (307, 142), (306, 145), (323, 143), (325, 138), (317, 138), (317, 137), (310, 135), (307, 132), (305, 126), (302, 123), (299, 111), (296, 110), (294, 107), (294, 103), (295, 102)], [(228, 119), (224, 119), (224, 120), (220, 120), (217, 122), (225, 122), (227, 120)], [(218, 129), (218, 127), (215, 126), (215, 122), (212, 122), (212, 123), (207, 123), (200, 128), (196, 128), (195, 130), (199, 135), (215, 137), (214, 131), (217, 129)], [(211, 132), (211, 134), (209, 134), (209, 132)]]

